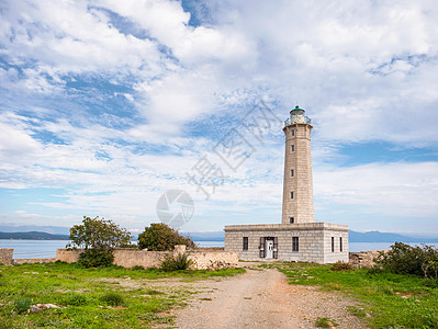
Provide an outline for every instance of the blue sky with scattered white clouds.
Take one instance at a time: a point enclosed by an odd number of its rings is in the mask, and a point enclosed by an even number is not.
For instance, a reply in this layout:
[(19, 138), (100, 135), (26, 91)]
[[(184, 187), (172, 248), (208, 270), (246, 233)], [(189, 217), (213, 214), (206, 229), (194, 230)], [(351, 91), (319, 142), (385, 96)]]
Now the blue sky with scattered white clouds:
[(438, 236), (435, 1), (0, 0), (0, 224), (280, 223), (296, 104), (316, 222)]

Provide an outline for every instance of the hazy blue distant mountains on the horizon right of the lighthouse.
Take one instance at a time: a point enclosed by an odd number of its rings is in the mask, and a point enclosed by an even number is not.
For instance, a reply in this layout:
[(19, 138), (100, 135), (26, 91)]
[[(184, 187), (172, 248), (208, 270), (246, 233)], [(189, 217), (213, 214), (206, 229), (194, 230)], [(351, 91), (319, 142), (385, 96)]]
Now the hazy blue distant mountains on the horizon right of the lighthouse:
[(438, 238), (433, 237), (407, 237), (398, 234), (382, 232), (378, 230), (359, 232), (349, 231), (350, 242), (411, 242), (411, 243), (437, 243)]

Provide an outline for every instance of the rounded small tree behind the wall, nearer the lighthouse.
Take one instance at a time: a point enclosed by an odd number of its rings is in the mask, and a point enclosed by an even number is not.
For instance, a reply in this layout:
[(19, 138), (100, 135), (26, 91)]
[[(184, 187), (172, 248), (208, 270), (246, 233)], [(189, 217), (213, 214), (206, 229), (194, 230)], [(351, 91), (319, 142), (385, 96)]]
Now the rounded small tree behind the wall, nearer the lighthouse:
[(191, 238), (181, 236), (176, 229), (164, 223), (153, 223), (150, 227), (145, 227), (144, 232), (138, 235), (138, 248), (154, 251), (172, 250), (176, 245), (186, 245), (195, 248)]

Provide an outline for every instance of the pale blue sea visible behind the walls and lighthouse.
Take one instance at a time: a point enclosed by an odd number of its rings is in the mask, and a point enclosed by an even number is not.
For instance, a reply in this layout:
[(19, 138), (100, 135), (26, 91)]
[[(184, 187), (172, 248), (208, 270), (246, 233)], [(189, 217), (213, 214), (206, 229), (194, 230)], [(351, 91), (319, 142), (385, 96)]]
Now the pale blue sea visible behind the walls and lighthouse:
[[(224, 241), (194, 241), (199, 247), (224, 247)], [(54, 258), (57, 248), (65, 248), (68, 240), (13, 240), (0, 239), (0, 248), (12, 248), (13, 258)], [(349, 251), (390, 249), (392, 242), (350, 242)], [(413, 246), (419, 243), (411, 243)], [(438, 247), (438, 243), (426, 243)]]

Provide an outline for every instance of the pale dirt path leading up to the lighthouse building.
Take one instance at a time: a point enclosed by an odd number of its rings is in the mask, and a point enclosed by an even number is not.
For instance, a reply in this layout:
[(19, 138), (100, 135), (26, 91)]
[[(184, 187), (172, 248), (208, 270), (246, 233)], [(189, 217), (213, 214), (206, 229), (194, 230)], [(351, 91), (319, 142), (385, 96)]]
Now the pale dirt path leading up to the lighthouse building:
[(315, 328), (318, 317), (334, 319), (337, 328), (367, 328), (346, 309), (353, 302), (290, 285), (273, 269), (199, 284), (190, 305), (175, 311), (178, 328)]

